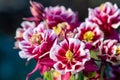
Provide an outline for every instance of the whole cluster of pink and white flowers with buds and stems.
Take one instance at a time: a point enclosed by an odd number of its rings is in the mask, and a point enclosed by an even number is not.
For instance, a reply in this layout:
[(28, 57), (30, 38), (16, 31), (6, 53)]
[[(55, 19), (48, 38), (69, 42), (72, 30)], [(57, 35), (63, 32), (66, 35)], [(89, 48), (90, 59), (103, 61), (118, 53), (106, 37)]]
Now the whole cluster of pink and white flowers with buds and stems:
[[(16, 30), (19, 56), (36, 66), (45, 80), (120, 79), (120, 9), (103, 3), (89, 9), (84, 22), (64, 6), (46, 7), (30, 2), (32, 17)], [(118, 70), (117, 70), (117, 69)]]

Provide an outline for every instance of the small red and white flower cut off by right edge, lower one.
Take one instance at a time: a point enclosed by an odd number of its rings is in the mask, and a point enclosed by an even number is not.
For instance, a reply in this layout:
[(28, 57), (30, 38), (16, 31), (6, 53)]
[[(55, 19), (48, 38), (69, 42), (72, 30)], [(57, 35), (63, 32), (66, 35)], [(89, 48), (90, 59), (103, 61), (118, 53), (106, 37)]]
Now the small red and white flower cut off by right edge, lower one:
[(100, 56), (108, 61), (120, 60), (120, 45), (117, 40), (105, 40), (101, 46)]

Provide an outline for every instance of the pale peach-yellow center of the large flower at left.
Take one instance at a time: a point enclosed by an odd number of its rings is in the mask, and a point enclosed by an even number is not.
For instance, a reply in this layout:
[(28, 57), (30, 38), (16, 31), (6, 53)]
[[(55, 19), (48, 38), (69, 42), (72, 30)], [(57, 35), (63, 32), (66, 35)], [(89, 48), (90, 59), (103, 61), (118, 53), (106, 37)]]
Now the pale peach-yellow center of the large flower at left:
[(42, 40), (42, 36), (40, 33), (33, 34), (32, 37), (30, 38), (31, 44), (40, 44)]

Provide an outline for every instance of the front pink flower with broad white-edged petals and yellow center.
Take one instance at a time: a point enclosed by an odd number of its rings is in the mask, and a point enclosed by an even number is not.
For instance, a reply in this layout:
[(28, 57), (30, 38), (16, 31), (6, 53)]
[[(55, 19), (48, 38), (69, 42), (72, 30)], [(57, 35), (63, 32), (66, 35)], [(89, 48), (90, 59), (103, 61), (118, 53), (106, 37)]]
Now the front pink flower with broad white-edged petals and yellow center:
[(55, 43), (50, 50), (50, 58), (55, 61), (54, 68), (61, 74), (77, 73), (84, 69), (84, 64), (90, 59), (88, 49), (78, 39), (68, 38)]

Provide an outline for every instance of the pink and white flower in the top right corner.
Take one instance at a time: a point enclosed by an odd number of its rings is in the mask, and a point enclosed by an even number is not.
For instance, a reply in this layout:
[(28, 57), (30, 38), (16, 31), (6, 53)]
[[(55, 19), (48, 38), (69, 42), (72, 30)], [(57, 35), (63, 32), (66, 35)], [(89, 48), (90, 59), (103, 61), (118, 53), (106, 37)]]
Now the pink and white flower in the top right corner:
[(116, 4), (106, 2), (95, 9), (89, 9), (86, 20), (98, 24), (106, 38), (119, 40), (115, 29), (120, 25), (120, 9)]

